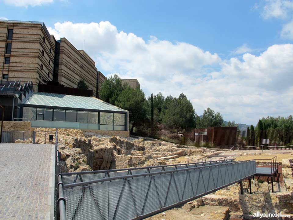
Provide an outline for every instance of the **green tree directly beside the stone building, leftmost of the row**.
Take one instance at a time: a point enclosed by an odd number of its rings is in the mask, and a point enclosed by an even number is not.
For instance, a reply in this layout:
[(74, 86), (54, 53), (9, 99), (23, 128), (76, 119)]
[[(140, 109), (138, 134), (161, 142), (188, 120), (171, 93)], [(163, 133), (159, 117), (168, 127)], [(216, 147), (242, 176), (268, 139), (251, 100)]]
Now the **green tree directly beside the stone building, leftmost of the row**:
[(128, 86), (126, 84), (123, 84), (119, 76), (115, 74), (103, 82), (99, 91), (99, 97), (103, 101), (115, 105), (119, 95), (127, 87)]

